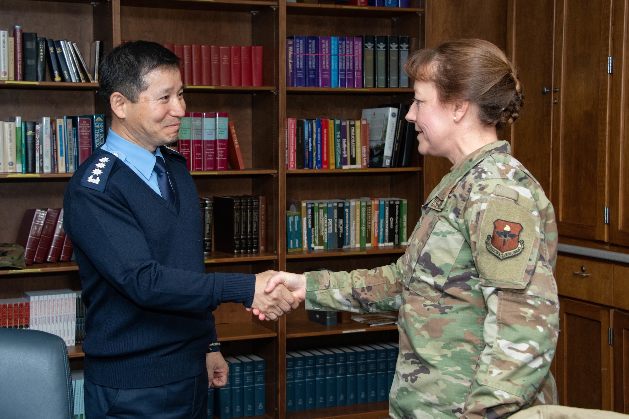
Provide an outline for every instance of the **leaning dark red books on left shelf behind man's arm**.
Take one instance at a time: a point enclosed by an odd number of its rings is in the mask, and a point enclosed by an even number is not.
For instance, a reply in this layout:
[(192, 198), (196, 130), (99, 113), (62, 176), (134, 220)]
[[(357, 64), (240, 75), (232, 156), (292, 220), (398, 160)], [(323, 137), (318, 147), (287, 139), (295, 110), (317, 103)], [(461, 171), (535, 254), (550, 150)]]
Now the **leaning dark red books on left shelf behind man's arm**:
[(64, 232), (63, 208), (26, 210), (15, 242), (24, 247), (27, 265), (72, 259), (72, 243)]

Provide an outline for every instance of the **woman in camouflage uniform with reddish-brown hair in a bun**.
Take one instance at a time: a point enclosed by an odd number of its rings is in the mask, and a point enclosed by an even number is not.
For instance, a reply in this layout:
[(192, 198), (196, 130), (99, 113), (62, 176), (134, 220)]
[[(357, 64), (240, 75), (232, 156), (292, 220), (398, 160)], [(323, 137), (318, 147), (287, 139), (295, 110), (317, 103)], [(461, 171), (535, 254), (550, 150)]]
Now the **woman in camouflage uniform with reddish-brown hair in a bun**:
[(267, 291), (283, 283), (306, 309), (399, 310), (394, 418), (499, 418), (556, 404), (554, 211), (496, 136), (523, 106), (516, 69), (495, 45), (468, 39), (415, 52), (404, 70), (415, 79), (406, 120), (420, 153), (454, 164), (406, 254), (370, 270), (280, 272)]

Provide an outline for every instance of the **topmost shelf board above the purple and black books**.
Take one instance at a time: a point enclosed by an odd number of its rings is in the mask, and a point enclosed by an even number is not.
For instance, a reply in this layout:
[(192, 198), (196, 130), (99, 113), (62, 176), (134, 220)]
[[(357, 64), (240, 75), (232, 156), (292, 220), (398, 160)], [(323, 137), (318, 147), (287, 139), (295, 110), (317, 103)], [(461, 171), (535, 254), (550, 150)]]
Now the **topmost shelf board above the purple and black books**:
[(286, 3), (287, 14), (316, 16), (355, 16), (370, 18), (395, 18), (421, 13), (419, 8), (381, 8), (374, 6), (343, 6), (342, 4)]

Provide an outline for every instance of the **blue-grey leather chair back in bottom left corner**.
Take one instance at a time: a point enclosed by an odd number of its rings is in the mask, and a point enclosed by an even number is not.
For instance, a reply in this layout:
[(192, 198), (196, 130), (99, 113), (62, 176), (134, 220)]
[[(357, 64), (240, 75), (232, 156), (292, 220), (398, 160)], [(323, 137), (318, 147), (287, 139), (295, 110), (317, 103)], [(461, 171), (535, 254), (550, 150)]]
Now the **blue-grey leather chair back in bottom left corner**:
[(0, 328), (0, 417), (72, 419), (72, 379), (62, 338)]

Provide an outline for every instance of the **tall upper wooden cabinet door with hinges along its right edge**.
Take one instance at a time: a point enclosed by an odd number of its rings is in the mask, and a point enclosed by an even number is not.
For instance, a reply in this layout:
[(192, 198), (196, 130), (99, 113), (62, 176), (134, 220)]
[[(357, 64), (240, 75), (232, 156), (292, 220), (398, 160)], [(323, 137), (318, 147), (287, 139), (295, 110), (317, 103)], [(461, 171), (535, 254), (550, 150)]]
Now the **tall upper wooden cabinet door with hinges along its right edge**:
[(611, 0), (557, 1), (552, 194), (559, 233), (606, 240)]

